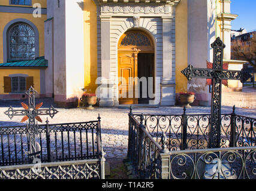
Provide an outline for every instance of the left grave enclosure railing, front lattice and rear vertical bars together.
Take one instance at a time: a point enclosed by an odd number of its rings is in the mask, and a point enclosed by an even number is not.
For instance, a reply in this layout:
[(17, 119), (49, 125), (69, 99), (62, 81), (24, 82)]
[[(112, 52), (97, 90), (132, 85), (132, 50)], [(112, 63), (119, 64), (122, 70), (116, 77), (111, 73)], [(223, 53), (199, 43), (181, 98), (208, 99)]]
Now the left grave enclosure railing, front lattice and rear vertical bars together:
[(105, 178), (100, 119), (38, 125), (34, 161), (27, 127), (0, 127), (0, 179)]

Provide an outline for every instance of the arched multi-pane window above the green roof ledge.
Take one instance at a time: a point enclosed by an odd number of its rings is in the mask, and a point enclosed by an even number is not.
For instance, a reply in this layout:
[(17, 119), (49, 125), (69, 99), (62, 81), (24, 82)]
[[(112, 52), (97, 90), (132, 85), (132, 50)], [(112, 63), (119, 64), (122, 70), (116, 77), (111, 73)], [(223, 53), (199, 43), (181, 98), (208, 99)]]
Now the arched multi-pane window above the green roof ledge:
[(35, 32), (26, 23), (14, 24), (8, 32), (8, 60), (35, 58)]

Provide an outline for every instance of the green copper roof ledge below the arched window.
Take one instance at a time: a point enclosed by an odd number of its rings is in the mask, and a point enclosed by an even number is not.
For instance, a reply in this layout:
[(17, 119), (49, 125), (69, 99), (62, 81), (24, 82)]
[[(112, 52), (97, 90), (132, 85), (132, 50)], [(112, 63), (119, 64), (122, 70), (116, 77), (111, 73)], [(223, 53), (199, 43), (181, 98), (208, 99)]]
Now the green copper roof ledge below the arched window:
[(23, 60), (23, 61), (13, 61), (9, 63), (2, 63), (0, 67), (19, 67), (19, 68), (35, 68), (35, 67), (48, 67), (48, 60), (44, 57), (35, 58), (35, 60)]

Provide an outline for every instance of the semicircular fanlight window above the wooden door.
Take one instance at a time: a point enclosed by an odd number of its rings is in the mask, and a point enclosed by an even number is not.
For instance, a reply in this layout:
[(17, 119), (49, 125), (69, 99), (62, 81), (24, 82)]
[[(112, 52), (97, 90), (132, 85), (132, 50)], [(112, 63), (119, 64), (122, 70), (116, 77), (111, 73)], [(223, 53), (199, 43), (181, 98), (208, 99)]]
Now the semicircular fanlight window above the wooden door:
[(128, 33), (122, 40), (121, 46), (151, 46), (151, 43), (142, 33)]

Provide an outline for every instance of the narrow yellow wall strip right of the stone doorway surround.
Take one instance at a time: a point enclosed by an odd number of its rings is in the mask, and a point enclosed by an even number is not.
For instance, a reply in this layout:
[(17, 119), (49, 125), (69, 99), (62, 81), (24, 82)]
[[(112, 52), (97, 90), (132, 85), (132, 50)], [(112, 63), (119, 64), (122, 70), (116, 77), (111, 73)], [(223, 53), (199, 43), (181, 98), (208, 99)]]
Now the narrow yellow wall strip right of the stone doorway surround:
[(176, 93), (187, 90), (187, 79), (180, 72), (188, 67), (188, 13), (187, 0), (182, 0), (176, 7)]

